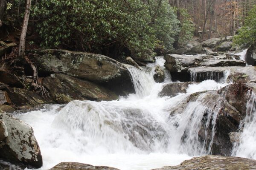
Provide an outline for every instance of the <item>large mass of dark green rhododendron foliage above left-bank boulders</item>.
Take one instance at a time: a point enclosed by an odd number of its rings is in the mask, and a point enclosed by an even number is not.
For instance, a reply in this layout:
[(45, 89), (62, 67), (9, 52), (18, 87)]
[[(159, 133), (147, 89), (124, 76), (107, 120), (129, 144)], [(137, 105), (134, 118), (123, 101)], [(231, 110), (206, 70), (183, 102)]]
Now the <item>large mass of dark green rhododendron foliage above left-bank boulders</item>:
[[(24, 2), (15, 0), (12, 11), (17, 2), (23, 10)], [(30, 26), (43, 48), (148, 57), (192, 38), (188, 13), (181, 10), (179, 21), (176, 10), (169, 0), (40, 0), (32, 1)]]

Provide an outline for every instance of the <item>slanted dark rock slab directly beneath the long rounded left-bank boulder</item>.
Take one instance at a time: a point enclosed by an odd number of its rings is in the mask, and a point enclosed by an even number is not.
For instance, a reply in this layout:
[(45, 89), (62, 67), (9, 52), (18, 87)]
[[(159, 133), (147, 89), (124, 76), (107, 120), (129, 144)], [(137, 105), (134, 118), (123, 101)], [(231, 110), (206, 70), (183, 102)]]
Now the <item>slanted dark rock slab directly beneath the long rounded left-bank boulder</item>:
[(101, 85), (64, 74), (46, 77), (44, 86), (57, 103), (68, 103), (72, 100), (110, 101), (118, 98)]

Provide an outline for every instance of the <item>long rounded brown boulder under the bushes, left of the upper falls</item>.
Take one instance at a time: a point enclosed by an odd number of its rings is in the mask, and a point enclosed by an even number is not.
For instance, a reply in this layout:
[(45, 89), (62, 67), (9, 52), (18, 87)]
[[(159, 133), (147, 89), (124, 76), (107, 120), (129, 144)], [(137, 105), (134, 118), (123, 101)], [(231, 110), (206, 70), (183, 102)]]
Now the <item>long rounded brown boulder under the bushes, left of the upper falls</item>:
[(76, 52), (67, 50), (37, 50), (31, 51), (30, 59), (38, 68), (38, 74), (53, 73), (92, 82), (102, 83), (115, 91), (134, 91), (128, 68), (109, 57), (100, 54)]

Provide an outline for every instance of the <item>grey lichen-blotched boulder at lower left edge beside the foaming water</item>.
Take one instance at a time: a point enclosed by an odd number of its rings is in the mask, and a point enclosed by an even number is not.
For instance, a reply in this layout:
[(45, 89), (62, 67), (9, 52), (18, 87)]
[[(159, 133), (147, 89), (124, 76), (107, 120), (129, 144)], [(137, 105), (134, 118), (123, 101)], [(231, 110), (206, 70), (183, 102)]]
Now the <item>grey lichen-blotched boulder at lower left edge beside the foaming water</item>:
[(42, 167), (40, 148), (33, 134), (33, 129), (26, 123), (0, 113), (0, 158), (14, 164), (22, 163), (28, 167)]

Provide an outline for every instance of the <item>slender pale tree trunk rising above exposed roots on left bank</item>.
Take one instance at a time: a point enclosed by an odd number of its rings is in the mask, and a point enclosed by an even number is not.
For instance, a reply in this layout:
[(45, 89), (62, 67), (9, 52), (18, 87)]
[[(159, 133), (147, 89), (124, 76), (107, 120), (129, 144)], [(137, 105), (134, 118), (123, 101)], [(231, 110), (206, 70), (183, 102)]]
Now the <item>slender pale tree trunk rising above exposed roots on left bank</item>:
[(27, 0), (24, 19), (23, 19), (23, 25), (22, 25), (21, 34), (20, 34), (19, 57), (24, 57), (24, 55), (25, 55), (26, 31), (27, 31), (28, 23), (29, 23), (30, 7), (31, 7), (31, 0)]

